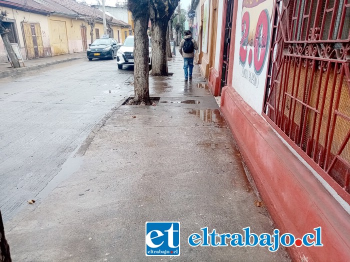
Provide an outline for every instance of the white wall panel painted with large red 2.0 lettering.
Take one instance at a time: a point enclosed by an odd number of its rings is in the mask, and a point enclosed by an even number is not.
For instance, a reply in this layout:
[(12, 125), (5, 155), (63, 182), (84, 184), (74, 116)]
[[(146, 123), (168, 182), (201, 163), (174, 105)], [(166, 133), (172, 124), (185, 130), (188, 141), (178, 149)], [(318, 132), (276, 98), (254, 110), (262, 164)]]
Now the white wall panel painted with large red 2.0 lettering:
[[(239, 0), (233, 81), (234, 88), (257, 112), (261, 112), (267, 72), (273, 0)], [(238, 7), (239, 8), (239, 7)], [(239, 21), (239, 22), (238, 22)]]

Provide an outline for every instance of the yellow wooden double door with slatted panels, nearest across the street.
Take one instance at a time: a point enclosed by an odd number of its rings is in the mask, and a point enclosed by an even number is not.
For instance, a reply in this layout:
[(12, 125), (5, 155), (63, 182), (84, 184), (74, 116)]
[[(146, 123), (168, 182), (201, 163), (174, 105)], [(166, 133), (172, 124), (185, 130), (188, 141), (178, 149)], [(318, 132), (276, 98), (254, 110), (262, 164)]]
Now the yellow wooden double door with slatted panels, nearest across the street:
[(41, 38), (40, 24), (36, 23), (22, 23), (25, 40), (25, 50), (27, 58), (43, 57), (43, 44)]

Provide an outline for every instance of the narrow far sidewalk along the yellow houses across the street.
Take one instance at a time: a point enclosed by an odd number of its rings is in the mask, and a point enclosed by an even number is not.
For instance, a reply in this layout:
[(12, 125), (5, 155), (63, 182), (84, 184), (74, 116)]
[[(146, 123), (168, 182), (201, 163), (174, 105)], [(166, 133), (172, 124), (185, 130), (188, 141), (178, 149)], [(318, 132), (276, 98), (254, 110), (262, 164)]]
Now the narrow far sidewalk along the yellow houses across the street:
[[(10, 63), (0, 63), (0, 78), (18, 75), (21, 72), (46, 67), (52, 64), (69, 62), (76, 59), (86, 58), (86, 52), (62, 54), (31, 60), (24, 60), (25, 67), (12, 68)], [(20, 63), (22, 66), (22, 63)]]

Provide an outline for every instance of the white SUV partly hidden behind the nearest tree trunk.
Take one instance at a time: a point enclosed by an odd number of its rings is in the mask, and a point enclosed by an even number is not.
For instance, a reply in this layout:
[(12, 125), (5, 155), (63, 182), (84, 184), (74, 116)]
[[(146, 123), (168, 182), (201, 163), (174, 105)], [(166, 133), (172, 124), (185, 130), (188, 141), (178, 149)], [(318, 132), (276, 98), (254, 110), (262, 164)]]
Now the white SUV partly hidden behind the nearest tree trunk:
[[(149, 68), (152, 66), (152, 41), (151, 38), (148, 38), (148, 65)], [(133, 65), (133, 47), (134, 47), (134, 38), (133, 35), (129, 35), (124, 40), (123, 44), (120, 46), (116, 52), (116, 63), (118, 69), (122, 69), (123, 65)]]

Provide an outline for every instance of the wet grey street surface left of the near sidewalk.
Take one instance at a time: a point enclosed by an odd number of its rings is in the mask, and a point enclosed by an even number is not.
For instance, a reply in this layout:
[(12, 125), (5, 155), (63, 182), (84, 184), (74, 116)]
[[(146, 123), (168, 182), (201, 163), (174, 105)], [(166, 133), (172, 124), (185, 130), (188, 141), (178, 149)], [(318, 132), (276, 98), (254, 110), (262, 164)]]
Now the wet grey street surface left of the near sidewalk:
[(133, 89), (132, 67), (79, 59), (0, 79), (0, 210), (13, 218)]

